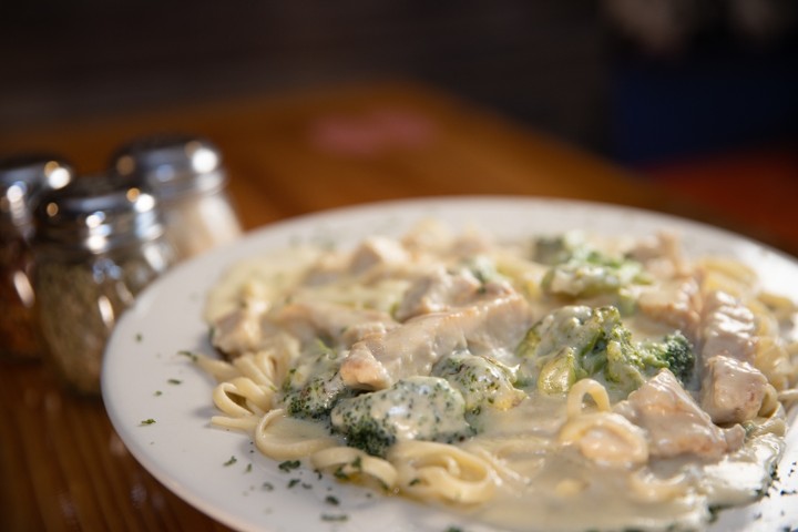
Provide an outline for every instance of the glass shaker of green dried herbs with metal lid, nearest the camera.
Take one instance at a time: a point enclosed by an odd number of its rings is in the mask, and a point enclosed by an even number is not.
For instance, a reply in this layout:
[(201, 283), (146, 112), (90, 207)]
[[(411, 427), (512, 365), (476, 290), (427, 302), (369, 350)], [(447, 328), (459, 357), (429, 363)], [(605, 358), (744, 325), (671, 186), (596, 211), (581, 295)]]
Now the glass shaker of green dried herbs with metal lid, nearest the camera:
[(155, 198), (84, 176), (35, 209), (34, 287), (45, 355), (68, 388), (100, 392), (106, 340), (135, 296), (174, 262)]

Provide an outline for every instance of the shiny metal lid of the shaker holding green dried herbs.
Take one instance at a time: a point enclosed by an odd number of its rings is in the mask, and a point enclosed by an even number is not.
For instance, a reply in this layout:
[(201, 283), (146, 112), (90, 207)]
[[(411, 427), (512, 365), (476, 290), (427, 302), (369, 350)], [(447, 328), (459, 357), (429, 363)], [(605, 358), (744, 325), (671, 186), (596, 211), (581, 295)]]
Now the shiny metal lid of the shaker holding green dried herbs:
[(35, 243), (91, 253), (150, 241), (163, 233), (155, 198), (116, 176), (75, 178), (44, 194), (35, 209)]

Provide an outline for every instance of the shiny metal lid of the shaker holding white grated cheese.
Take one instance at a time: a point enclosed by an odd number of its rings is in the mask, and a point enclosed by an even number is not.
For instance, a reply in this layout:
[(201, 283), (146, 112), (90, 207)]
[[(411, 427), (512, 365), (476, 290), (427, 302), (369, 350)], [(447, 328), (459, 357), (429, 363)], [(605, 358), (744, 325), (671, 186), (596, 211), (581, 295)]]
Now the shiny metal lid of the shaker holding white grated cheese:
[(227, 182), (218, 149), (207, 139), (181, 134), (134, 140), (114, 154), (111, 171), (165, 201), (211, 193)]

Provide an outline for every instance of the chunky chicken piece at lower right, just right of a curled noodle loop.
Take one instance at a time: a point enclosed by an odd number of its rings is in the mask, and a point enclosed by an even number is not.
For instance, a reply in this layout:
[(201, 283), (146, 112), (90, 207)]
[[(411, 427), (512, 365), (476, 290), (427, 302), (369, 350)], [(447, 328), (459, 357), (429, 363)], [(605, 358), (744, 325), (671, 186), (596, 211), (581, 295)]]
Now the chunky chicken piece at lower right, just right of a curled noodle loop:
[(615, 411), (646, 431), (652, 457), (719, 458), (737, 449), (745, 437), (738, 424), (728, 430), (714, 424), (667, 369), (630, 393)]

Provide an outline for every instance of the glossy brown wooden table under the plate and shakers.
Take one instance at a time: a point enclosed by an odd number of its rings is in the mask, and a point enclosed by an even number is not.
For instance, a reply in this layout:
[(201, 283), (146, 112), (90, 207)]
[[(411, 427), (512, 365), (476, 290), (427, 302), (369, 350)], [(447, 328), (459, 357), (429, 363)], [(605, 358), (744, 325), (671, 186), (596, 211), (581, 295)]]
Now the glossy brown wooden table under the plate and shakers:
[[(206, 135), (246, 228), (380, 200), (454, 194), (582, 198), (700, 217), (641, 178), (505, 119), (408, 83), (168, 109), (0, 132), (0, 154), (50, 150), (83, 173), (133, 136)], [(0, 319), (2, 319), (0, 317)], [(155, 481), (102, 402), (40, 364), (0, 366), (0, 530), (226, 530)]]

